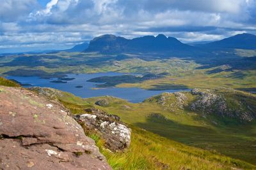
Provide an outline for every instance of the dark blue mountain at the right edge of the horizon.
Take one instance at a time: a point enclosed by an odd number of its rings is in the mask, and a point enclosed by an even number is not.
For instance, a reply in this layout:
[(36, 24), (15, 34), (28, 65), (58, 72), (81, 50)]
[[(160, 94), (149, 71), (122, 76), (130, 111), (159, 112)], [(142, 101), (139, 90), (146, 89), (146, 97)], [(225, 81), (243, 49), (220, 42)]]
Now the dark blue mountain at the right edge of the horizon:
[(229, 38), (214, 41), (205, 45), (199, 45), (206, 48), (239, 48), (246, 50), (256, 49), (256, 36), (253, 34), (237, 34)]

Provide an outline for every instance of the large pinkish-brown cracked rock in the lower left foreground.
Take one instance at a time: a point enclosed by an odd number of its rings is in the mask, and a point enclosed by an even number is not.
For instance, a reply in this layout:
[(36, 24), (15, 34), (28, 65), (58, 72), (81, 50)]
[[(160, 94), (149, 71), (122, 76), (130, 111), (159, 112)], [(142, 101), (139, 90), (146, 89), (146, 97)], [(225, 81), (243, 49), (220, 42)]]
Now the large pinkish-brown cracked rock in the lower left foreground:
[(1, 169), (111, 169), (58, 102), (0, 86)]

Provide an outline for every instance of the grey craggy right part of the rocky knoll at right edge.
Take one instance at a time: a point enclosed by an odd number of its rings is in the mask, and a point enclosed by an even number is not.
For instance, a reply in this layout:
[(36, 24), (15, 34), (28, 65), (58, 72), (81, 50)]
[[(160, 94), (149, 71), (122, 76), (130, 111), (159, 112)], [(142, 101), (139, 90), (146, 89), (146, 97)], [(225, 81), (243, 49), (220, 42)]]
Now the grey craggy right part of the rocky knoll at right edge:
[(232, 89), (192, 89), (191, 94), (195, 96), (195, 101), (189, 107), (193, 111), (235, 118), (240, 122), (252, 122), (256, 118), (253, 110), (256, 97), (252, 94)]

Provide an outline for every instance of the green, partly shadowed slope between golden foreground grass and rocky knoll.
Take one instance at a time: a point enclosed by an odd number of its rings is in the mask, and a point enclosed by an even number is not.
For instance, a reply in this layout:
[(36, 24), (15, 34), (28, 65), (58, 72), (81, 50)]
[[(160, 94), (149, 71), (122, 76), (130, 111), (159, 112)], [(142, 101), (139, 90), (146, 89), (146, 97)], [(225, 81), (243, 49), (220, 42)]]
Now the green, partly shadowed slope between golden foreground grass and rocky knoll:
[[(88, 99), (90, 103), (96, 100)], [(166, 138), (256, 164), (256, 124), (227, 126), (215, 117), (203, 118), (193, 111), (170, 111), (155, 103), (132, 104), (119, 99), (100, 108)], [(152, 113), (161, 113), (164, 120), (151, 117)]]

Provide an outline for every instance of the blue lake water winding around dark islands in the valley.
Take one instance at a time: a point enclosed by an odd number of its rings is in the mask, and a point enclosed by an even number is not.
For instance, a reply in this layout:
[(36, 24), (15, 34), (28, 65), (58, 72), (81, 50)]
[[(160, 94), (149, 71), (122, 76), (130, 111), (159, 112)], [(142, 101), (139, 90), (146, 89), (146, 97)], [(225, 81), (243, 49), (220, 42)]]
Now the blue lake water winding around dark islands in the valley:
[[(132, 88), (119, 88), (119, 87), (109, 87), (103, 89), (93, 89), (97, 84), (88, 82), (91, 78), (96, 78), (99, 76), (121, 76), (124, 73), (93, 73), (93, 74), (67, 74), (65, 78), (75, 78), (74, 80), (67, 81), (67, 83), (52, 83), (50, 81), (57, 80), (56, 78), (42, 79), (35, 76), (22, 77), (22, 76), (6, 76), (8, 79), (14, 79), (22, 84), (31, 84), (33, 87), (51, 87), (54, 89), (59, 89), (65, 92), (70, 92), (76, 96), (88, 98), (97, 96), (114, 96), (118, 98), (125, 99), (132, 103), (140, 103), (148, 97), (161, 94), (163, 92), (179, 92), (188, 91), (189, 89), (180, 90), (145, 90), (136, 87)], [(64, 80), (65, 81), (65, 80)], [(77, 86), (83, 86), (82, 88), (76, 88)]]

